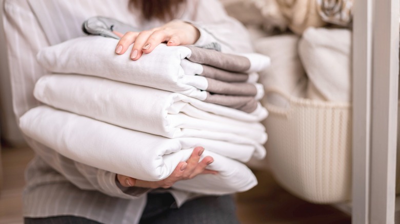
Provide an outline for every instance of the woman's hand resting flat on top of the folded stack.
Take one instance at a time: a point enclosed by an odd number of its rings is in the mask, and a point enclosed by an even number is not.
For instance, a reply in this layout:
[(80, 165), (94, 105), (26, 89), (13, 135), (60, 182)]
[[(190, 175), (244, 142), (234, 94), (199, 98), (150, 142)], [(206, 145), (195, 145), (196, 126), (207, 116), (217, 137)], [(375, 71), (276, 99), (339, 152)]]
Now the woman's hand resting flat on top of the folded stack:
[(142, 32), (128, 32), (125, 35), (114, 31), (121, 37), (115, 53), (124, 54), (133, 43), (131, 59), (139, 59), (143, 53), (150, 53), (158, 44), (167, 42), (168, 46), (193, 44), (200, 37), (200, 32), (193, 25), (184, 21), (173, 20), (162, 27)]

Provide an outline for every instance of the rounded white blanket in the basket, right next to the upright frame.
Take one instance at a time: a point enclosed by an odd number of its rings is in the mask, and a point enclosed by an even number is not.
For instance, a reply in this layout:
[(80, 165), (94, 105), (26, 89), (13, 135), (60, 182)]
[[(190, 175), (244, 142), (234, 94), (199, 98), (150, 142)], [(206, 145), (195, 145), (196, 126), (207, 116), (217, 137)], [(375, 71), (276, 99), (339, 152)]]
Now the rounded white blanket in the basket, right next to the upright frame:
[(327, 28), (304, 32), (298, 53), (312, 83), (309, 98), (351, 101), (351, 34), (348, 29)]

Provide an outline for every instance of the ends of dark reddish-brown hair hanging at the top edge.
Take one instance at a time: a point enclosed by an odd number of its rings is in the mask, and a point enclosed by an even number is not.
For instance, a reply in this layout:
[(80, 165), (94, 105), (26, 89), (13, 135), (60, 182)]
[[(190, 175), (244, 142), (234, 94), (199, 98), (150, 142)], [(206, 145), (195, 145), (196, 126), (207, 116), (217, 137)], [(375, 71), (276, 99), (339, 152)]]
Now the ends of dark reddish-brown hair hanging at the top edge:
[(179, 6), (186, 0), (129, 0), (129, 6), (142, 12), (143, 18), (173, 19)]

